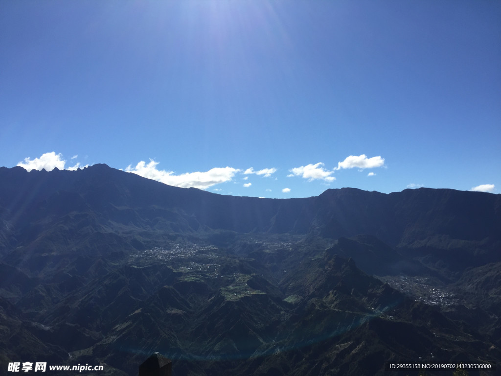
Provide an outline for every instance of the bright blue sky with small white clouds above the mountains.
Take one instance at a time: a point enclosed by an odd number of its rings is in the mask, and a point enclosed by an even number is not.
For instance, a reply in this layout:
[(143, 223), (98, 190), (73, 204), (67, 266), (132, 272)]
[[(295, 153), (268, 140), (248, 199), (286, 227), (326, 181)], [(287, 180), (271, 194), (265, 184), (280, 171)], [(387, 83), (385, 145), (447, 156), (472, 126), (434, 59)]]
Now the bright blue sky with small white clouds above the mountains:
[(0, 165), (499, 193), (496, 1), (0, 0)]

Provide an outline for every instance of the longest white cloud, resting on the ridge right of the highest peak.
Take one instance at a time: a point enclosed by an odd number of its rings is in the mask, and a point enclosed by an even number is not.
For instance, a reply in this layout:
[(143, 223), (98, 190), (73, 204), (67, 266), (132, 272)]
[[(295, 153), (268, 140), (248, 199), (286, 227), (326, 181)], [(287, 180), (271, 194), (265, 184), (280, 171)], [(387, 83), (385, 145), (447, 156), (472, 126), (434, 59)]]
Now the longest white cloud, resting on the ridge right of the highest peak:
[(208, 187), (230, 181), (235, 173), (240, 170), (232, 167), (214, 167), (205, 172), (186, 172), (180, 175), (175, 175), (174, 171), (159, 170), (156, 168), (158, 162), (150, 159), (146, 164), (145, 161), (140, 161), (135, 167), (128, 165), (125, 171), (133, 172), (140, 176), (147, 177), (160, 181), (164, 184), (180, 186), (183, 188), (195, 187), (205, 190)]

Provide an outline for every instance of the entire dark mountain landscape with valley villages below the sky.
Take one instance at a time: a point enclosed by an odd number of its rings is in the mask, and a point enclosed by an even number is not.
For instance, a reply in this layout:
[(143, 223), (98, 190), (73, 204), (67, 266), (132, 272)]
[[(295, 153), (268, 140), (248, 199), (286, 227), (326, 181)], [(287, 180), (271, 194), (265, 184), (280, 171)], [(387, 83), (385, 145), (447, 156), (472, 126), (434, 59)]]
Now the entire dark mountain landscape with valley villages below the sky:
[(153, 351), (174, 375), (499, 362), (500, 249), (501, 195), (259, 199), (105, 164), (0, 167), (0, 374), (12, 361), (137, 374)]

